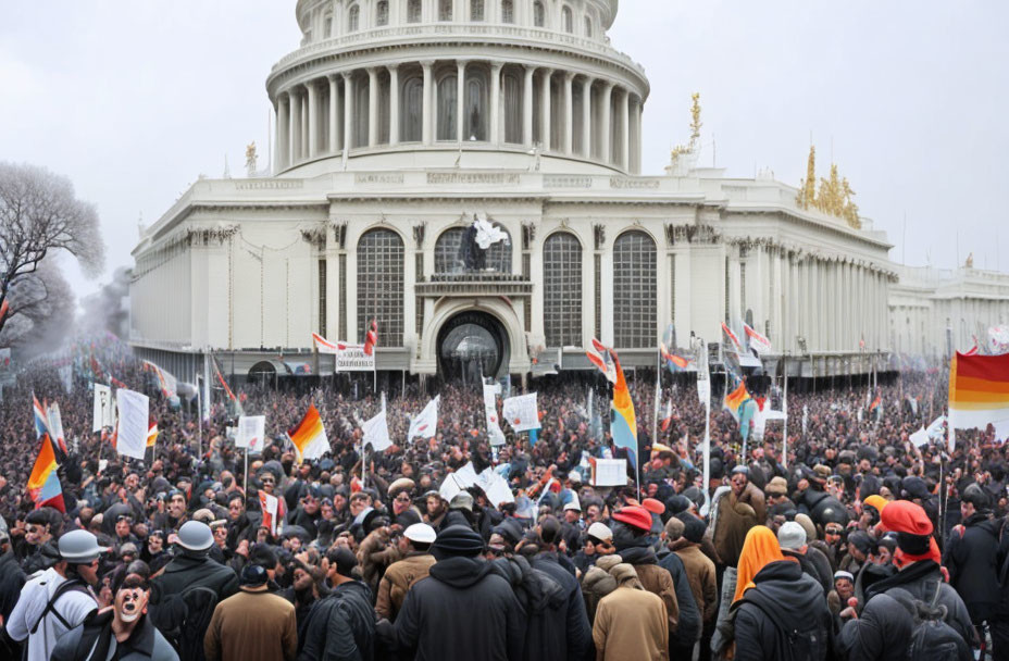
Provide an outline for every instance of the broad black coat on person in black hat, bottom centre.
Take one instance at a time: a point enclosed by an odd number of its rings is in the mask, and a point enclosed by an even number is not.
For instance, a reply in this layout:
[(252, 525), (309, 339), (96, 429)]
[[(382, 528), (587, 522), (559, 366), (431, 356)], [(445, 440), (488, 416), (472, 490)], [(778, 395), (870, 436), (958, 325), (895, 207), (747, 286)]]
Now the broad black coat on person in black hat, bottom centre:
[[(511, 585), (476, 558), (439, 560), (378, 636), (416, 661), (521, 661), (525, 616)], [(409, 658), (409, 657), (407, 657)]]

